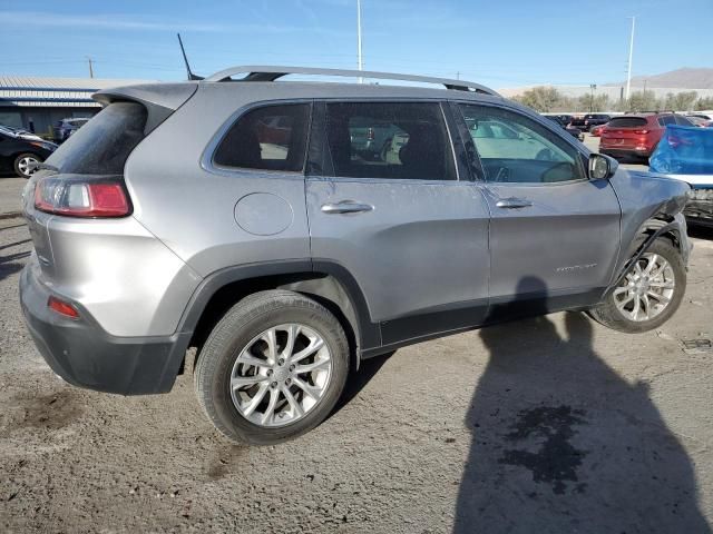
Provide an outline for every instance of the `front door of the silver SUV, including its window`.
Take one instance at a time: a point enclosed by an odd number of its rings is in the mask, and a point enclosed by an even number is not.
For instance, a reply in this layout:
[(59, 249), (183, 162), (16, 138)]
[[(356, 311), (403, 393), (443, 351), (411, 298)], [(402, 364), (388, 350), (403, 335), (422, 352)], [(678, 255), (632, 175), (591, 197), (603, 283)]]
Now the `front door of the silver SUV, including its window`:
[(611, 184), (589, 180), (573, 142), (517, 110), (458, 109), (491, 214), (491, 304), (545, 299), (557, 309), (596, 301), (619, 247)]

